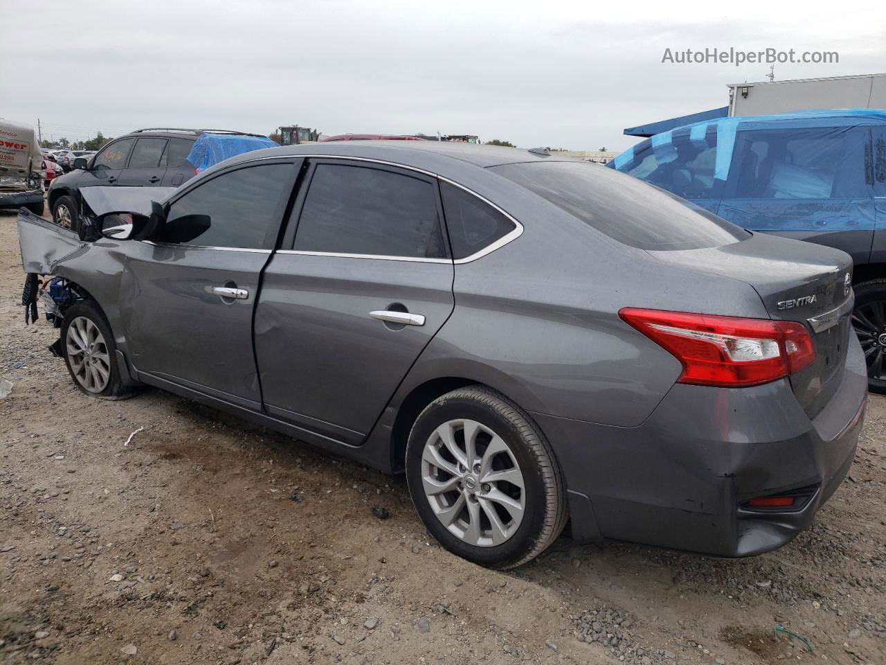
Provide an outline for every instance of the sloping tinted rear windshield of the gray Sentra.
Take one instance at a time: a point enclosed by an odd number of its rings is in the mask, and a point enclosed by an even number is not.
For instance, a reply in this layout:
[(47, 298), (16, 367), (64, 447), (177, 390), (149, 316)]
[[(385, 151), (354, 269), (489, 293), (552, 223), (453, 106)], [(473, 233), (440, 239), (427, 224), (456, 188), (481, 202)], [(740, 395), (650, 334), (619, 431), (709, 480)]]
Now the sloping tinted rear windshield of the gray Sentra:
[(748, 231), (688, 200), (611, 168), (548, 161), (506, 164), (490, 170), (632, 247), (699, 249), (750, 238)]

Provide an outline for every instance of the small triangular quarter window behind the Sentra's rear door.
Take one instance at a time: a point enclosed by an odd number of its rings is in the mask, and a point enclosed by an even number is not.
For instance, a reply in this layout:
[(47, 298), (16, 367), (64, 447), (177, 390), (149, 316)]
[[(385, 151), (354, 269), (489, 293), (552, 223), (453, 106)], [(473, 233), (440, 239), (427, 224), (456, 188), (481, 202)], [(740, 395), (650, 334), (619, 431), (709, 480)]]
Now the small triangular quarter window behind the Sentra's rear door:
[(517, 228), (505, 215), (461, 187), (440, 183), (440, 192), (455, 259), (477, 254)]

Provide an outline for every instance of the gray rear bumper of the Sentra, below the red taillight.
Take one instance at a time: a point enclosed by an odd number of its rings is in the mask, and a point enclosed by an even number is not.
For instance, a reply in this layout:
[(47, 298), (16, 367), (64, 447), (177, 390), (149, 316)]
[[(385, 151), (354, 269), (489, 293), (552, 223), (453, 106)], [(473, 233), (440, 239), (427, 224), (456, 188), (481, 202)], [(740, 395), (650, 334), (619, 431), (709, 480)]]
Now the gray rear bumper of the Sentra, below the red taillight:
[[(569, 489), (573, 536), (742, 557), (812, 523), (849, 473), (867, 372), (855, 335), (841, 385), (809, 419), (787, 379), (730, 389), (675, 385), (641, 426), (533, 414)], [(813, 487), (799, 509), (754, 512), (753, 497)]]

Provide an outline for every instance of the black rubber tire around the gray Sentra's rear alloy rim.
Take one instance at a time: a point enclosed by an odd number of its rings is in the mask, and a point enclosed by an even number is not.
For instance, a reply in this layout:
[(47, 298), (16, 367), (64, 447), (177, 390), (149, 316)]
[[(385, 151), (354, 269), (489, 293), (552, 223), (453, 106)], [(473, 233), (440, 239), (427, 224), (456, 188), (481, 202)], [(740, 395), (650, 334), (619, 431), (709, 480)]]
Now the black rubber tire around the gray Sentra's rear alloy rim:
[[(508, 446), (519, 467), (518, 471), (522, 473), (524, 489), (517, 489), (524, 501), (522, 521), (501, 544), (466, 543), (444, 526), (425, 495), (425, 446), (439, 426), (457, 419), (473, 420), (494, 431)], [(479, 450), (479, 446), (483, 444), (480, 443), (480, 437), (477, 437), (477, 441)], [(416, 511), (431, 535), (449, 552), (481, 566), (505, 569), (534, 559), (556, 540), (568, 517), (563, 474), (544, 434), (517, 404), (487, 387), (459, 388), (440, 396), (419, 414), (409, 433), (406, 475), (409, 494), (416, 505)], [(460, 488), (465, 485), (460, 485)], [(486, 484), (482, 486), (489, 487)], [(500, 486), (496, 486), (498, 487)], [(455, 496), (461, 492), (462, 489), (459, 489)], [(455, 505), (455, 500), (452, 500), (452, 504)], [(491, 504), (487, 502), (486, 505)], [(467, 505), (465, 506), (467, 510)], [(488, 525), (489, 518), (484, 519)]]

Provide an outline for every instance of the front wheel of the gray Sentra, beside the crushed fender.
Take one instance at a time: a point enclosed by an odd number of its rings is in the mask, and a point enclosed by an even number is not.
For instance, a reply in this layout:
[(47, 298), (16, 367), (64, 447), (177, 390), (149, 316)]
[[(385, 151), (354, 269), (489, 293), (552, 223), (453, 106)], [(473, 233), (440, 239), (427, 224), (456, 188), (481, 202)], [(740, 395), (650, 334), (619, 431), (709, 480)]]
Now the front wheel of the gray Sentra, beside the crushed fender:
[(105, 399), (130, 395), (120, 380), (111, 326), (94, 302), (75, 302), (66, 311), (61, 340), (67, 371), (82, 393)]

